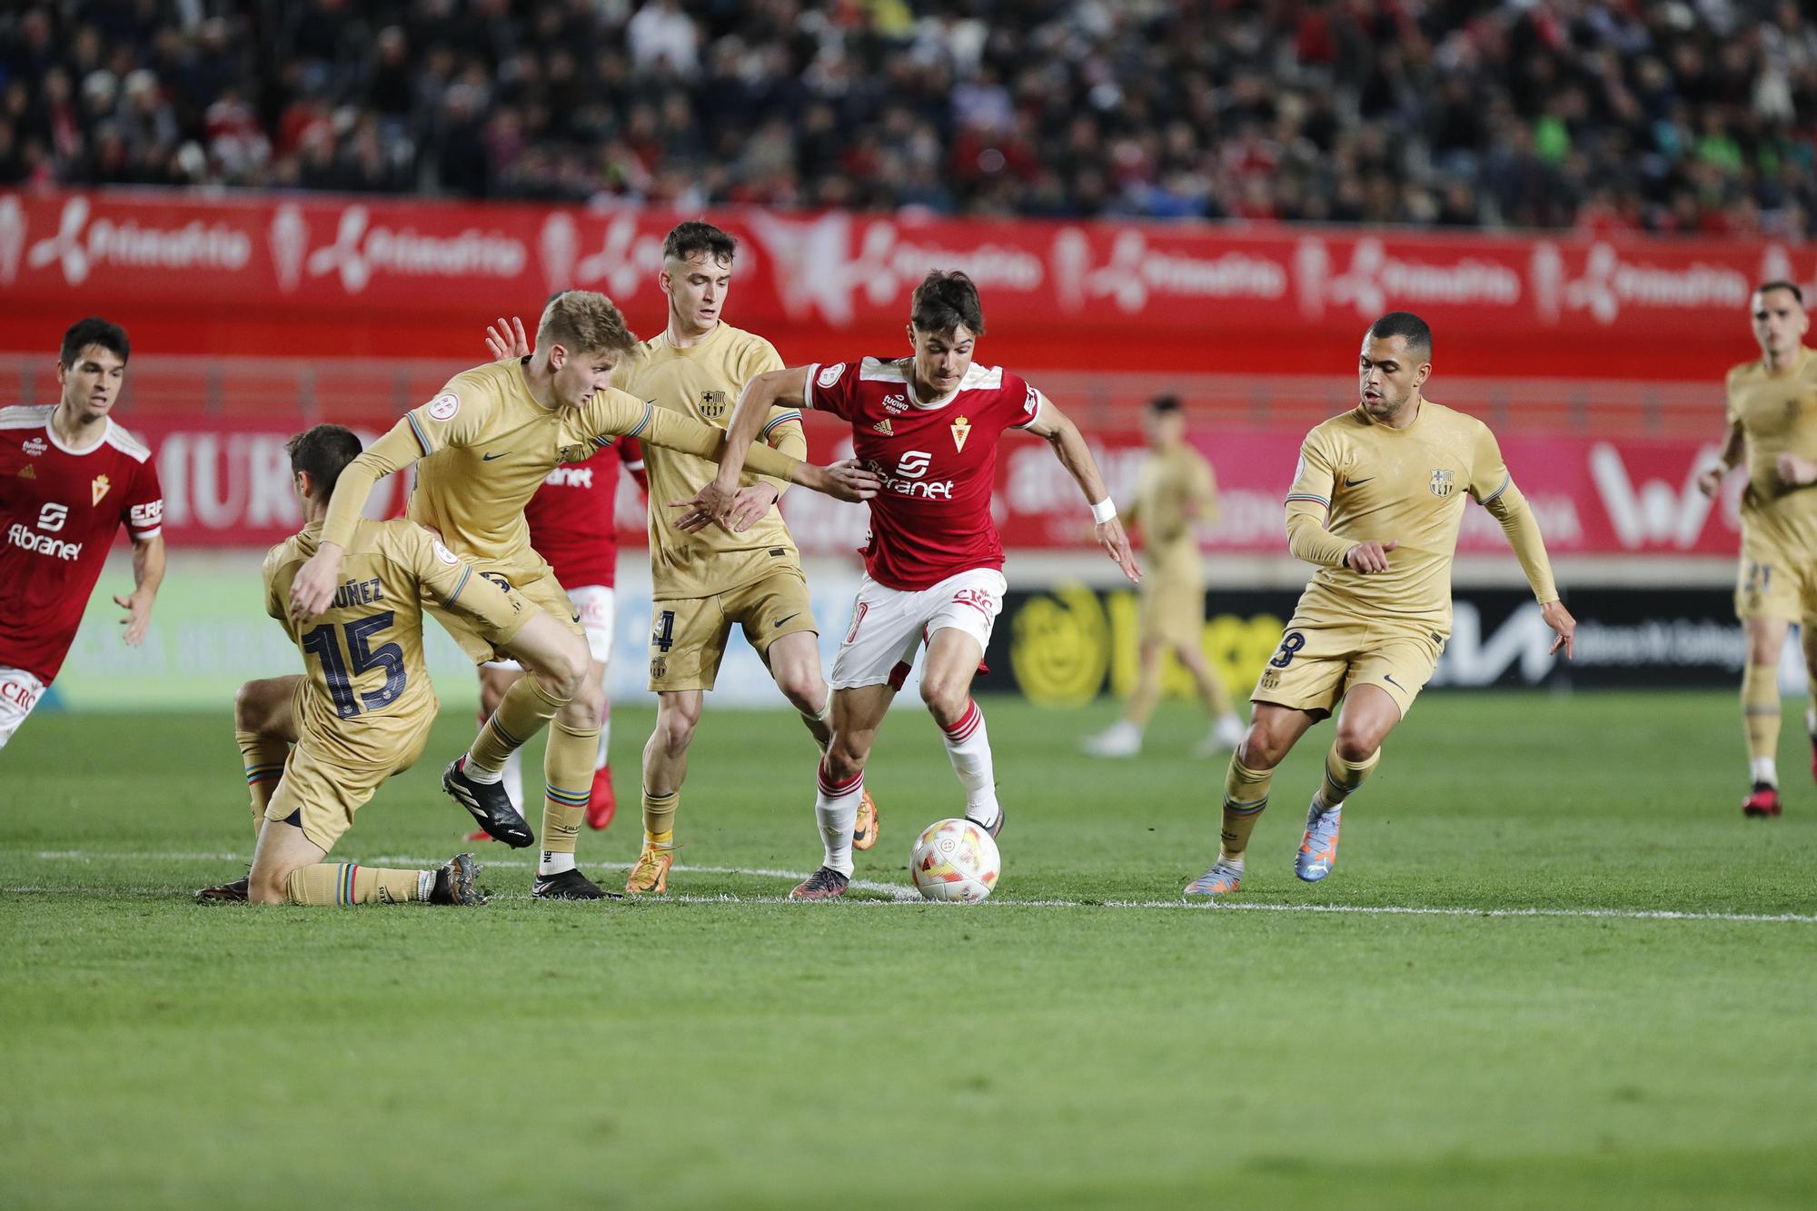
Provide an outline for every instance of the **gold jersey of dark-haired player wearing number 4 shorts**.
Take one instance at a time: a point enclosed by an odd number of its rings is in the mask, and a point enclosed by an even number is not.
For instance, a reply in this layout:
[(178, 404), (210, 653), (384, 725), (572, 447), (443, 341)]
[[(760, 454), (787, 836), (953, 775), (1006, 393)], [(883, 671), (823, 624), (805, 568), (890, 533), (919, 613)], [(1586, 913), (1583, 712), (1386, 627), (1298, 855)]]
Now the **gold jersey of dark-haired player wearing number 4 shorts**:
[[(730, 324), (718, 324), (705, 340), (685, 349), (670, 344), (667, 333), (643, 342), (621, 378), (627, 391), (652, 400), (660, 409), (725, 429), (745, 384), (781, 367), (783, 360), (770, 342)], [(807, 456), (801, 413), (772, 407), (758, 442), (792, 458)], [(718, 473), (716, 464), (700, 455), (652, 447), (645, 451), (645, 467), (650, 476), (654, 600), (712, 596), (761, 580), (776, 567), (801, 567), (801, 556), (778, 507), (770, 507), (741, 535), (723, 525), (709, 525), (698, 535), (676, 529), (674, 509), (667, 502), (692, 496)], [(754, 484), (758, 478), (747, 475), (745, 482)], [(778, 491), (789, 487), (787, 480), (774, 476), (761, 476), (761, 482)]]

